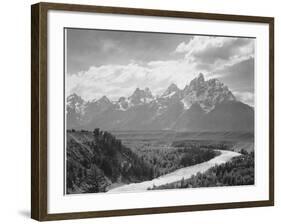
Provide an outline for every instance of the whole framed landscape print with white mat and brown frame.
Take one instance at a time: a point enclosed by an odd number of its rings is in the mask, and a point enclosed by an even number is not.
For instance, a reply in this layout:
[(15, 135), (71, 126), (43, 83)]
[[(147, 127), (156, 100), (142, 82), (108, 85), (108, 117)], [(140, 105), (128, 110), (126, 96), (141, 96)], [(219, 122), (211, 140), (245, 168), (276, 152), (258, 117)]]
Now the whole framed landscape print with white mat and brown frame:
[(32, 5), (32, 218), (274, 204), (274, 19)]

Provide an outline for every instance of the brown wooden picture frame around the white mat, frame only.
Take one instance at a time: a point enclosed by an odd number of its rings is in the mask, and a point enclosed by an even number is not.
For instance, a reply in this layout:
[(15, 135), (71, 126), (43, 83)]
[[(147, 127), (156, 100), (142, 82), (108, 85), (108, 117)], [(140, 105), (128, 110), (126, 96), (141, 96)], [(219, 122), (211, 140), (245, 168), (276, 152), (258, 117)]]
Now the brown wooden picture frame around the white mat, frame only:
[[(268, 200), (212, 203), (183, 206), (130, 208), (103, 211), (48, 213), (48, 19), (50, 10), (123, 14), (178, 19), (248, 22), (269, 26), (269, 182)], [(201, 12), (164, 11), (91, 5), (38, 3), (31, 7), (31, 217), (39, 221), (81, 219), (109, 216), (142, 215), (170, 212), (203, 211), (274, 205), (274, 18), (211, 14)]]

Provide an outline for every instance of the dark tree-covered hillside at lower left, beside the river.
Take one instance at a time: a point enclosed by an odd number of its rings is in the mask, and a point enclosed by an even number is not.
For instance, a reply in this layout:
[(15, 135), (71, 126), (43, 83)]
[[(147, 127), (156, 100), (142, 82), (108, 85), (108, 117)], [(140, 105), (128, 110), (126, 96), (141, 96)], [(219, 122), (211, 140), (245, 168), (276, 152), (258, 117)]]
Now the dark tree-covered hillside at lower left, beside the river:
[(152, 170), (108, 132), (67, 131), (67, 193), (104, 192), (113, 183), (141, 182)]

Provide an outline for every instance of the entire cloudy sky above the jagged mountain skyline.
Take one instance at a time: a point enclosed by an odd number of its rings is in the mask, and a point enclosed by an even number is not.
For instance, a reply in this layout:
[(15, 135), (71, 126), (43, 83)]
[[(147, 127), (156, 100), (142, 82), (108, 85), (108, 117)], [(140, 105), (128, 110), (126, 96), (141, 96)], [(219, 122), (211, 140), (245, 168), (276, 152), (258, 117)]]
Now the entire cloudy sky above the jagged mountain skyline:
[(130, 96), (148, 87), (184, 88), (200, 72), (241, 101), (254, 102), (254, 39), (67, 29), (66, 91), (85, 100)]

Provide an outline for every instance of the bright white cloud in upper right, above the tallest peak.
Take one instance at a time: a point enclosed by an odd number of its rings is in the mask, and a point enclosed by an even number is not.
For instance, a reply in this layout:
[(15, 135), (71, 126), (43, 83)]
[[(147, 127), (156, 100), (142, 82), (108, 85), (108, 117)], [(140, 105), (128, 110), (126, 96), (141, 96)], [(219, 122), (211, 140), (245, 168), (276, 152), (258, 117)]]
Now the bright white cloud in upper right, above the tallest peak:
[(187, 43), (180, 43), (175, 52), (184, 53), (186, 60), (195, 61), (198, 67), (213, 72), (254, 57), (254, 40), (195, 36)]

